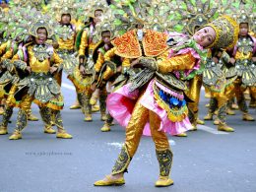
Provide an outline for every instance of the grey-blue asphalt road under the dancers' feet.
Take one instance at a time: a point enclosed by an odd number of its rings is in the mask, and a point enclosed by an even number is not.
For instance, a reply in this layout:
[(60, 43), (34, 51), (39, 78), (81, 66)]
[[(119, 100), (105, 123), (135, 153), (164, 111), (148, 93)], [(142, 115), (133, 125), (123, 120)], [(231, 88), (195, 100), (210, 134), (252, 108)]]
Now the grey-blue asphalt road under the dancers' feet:
[[(111, 127), (101, 133), (99, 113), (86, 123), (80, 110), (70, 110), (75, 100), (72, 84), (63, 78), (66, 106), (62, 111), (72, 140), (56, 139), (43, 133), (43, 124), (29, 122), (23, 139), (10, 141), (15, 128), (17, 109), (9, 125), (9, 135), (0, 136), (0, 192), (255, 192), (256, 191), (256, 122), (241, 120), (241, 112), (228, 116), (234, 133), (217, 131), (212, 121), (188, 132), (187, 138), (169, 137), (174, 154), (171, 178), (174, 185), (156, 188), (159, 175), (155, 145), (143, 137), (133, 158), (126, 184), (119, 187), (95, 187), (96, 180), (110, 173), (124, 141), (124, 128)], [(202, 91), (200, 117), (206, 114), (208, 98)], [(39, 116), (38, 107), (32, 112)], [(256, 118), (255, 109), (250, 109)], [(1, 119), (1, 117), (0, 117)]]

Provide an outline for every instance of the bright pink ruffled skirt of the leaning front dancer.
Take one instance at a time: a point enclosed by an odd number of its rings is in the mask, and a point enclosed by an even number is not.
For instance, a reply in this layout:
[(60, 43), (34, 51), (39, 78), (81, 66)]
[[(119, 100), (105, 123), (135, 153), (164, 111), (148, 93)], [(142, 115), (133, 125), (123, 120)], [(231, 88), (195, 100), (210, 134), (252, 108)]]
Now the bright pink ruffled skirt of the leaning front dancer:
[[(140, 103), (154, 111), (160, 117), (160, 128), (159, 131), (163, 131), (170, 135), (177, 135), (184, 133), (192, 128), (192, 125), (188, 119), (185, 117), (182, 121), (172, 122), (168, 119), (167, 113), (164, 109), (160, 108), (158, 103), (154, 98), (153, 84), (155, 80), (152, 80), (147, 87), (146, 92), (140, 99)], [(106, 100), (106, 107), (111, 116), (123, 127), (128, 125), (128, 122), (132, 116), (133, 108), (138, 100), (139, 91), (134, 92), (129, 91), (130, 84), (123, 86), (118, 89), (113, 94), (109, 95)], [(146, 124), (144, 135), (151, 136), (150, 124)]]

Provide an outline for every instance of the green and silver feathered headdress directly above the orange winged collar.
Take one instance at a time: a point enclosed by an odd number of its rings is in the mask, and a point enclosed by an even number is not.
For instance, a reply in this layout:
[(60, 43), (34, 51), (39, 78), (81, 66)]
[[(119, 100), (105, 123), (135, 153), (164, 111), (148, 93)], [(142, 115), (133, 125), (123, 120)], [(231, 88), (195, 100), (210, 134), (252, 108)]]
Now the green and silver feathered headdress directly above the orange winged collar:
[(116, 13), (116, 23), (124, 25), (126, 30), (143, 25), (145, 29), (163, 32), (171, 30), (175, 22), (168, 0), (116, 0), (110, 7)]

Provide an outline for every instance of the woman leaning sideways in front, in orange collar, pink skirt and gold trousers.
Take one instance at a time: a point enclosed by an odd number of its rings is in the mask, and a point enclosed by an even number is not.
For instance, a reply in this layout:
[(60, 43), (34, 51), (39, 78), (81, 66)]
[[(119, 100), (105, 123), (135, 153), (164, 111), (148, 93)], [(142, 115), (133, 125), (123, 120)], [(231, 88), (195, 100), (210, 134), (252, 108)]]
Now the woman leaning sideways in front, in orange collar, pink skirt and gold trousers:
[[(146, 6), (140, 6), (143, 7)], [(112, 172), (96, 181), (96, 186), (125, 184), (123, 174), (137, 151), (147, 122), (160, 163), (156, 186), (173, 184), (169, 178), (172, 152), (165, 133), (177, 134), (192, 128), (187, 117), (183, 94), (186, 87), (181, 75), (186, 77), (200, 67), (203, 48), (234, 44), (237, 31), (233, 20), (222, 17), (196, 32), (192, 39), (146, 30), (143, 35), (138, 35), (140, 31), (126, 32), (112, 41), (117, 55), (130, 58), (132, 66), (142, 65), (145, 69), (134, 77), (131, 84), (108, 96), (110, 114), (119, 123), (126, 124), (126, 139)]]

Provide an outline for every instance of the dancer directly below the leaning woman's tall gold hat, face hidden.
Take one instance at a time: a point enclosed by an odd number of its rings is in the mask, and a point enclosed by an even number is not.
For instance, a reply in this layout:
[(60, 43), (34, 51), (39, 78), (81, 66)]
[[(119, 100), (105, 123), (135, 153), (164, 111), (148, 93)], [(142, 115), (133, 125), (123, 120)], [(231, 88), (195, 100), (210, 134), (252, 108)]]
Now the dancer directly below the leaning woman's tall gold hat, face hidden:
[[(226, 47), (227, 48), (227, 47)], [(229, 63), (229, 55), (222, 49), (209, 49), (206, 68), (203, 72), (203, 83), (211, 91), (210, 105), (205, 120), (213, 120), (215, 111), (219, 131), (233, 132), (234, 129), (226, 125), (226, 111), (228, 98), (234, 95), (233, 82), (237, 78), (234, 65)]]

